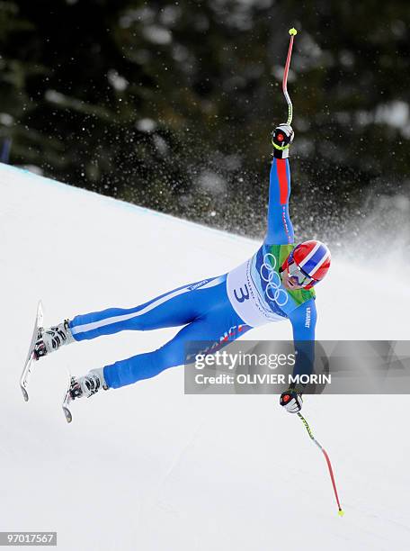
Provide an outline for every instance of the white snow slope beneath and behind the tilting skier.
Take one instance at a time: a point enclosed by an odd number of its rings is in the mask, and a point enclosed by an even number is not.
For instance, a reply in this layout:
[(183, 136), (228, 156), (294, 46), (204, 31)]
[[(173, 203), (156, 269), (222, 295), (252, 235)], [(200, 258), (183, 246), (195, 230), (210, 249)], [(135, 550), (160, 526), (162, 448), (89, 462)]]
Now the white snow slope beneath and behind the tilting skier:
[[(46, 324), (128, 307), (218, 275), (257, 244), (0, 166), (0, 530), (57, 530), (58, 549), (406, 549), (409, 397), (310, 396), (323, 456), (272, 396), (185, 396), (183, 369), (60, 410), (67, 370), (156, 348), (174, 330), (128, 332), (44, 358), (22, 401), (36, 304)], [(373, 274), (374, 275), (374, 274)], [(321, 339), (406, 339), (410, 294), (335, 258), (318, 289)], [(384, 300), (383, 300), (384, 299)], [(380, 303), (380, 301), (383, 301)], [(289, 338), (274, 324), (248, 339)]]

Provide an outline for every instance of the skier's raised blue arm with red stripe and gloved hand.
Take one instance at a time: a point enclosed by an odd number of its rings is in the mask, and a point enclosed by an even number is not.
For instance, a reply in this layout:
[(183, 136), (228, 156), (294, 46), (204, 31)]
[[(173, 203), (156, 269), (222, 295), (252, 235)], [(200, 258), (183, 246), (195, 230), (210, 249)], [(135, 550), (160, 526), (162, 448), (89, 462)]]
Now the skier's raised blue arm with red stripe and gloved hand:
[[(285, 136), (291, 132), (290, 141), (293, 139), (293, 131), (289, 125), (279, 126), (273, 133), (273, 143), (278, 136)], [(276, 147), (276, 146), (275, 146)], [(293, 227), (289, 215), (290, 198), (290, 164), (288, 152), (283, 153), (274, 149), (269, 183), (268, 229), (264, 243), (269, 245), (287, 245), (293, 243)]]

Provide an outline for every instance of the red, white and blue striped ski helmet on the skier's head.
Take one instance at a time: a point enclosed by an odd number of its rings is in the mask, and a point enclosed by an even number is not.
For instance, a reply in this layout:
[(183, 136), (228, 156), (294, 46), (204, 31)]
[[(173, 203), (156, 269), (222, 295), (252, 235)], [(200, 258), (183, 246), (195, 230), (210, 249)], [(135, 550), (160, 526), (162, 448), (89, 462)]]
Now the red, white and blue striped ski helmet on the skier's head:
[(310, 289), (316, 285), (327, 274), (330, 267), (330, 250), (325, 243), (311, 239), (299, 243), (289, 257), (283, 263), (281, 271), (285, 270), (292, 264), (298, 266), (299, 271), (306, 276), (307, 285), (303, 285), (305, 289)]

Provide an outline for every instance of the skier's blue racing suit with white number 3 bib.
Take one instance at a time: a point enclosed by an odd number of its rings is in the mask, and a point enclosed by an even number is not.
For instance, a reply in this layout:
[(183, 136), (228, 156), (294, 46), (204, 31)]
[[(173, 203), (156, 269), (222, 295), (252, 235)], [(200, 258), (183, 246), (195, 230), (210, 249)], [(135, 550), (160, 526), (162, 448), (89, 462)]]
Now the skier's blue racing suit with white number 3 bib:
[(258, 325), (286, 319), (292, 324), (295, 348), (303, 352), (297, 356), (293, 374), (310, 373), (316, 325), (315, 292), (287, 290), (281, 285), (279, 271), (294, 247), (289, 197), (289, 160), (273, 158), (268, 230), (263, 245), (252, 258), (228, 274), (183, 285), (134, 308), (110, 308), (78, 315), (69, 322), (78, 341), (123, 330), (183, 326), (161, 348), (105, 366), (103, 373), (109, 387), (136, 383), (168, 367), (183, 365), (187, 342), (234, 340)]

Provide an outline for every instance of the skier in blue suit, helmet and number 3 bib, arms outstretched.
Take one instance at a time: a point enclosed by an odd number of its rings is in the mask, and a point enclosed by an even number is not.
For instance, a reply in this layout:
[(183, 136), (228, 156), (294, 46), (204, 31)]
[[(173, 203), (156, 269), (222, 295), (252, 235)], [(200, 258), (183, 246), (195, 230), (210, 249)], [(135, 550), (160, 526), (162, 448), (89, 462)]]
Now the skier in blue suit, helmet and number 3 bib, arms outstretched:
[[(286, 319), (293, 328), (295, 348), (302, 352), (297, 356), (293, 374), (308, 371), (306, 358), (312, 364), (314, 355), (314, 285), (324, 278), (330, 266), (330, 252), (316, 240), (294, 245), (288, 158), (293, 138), (287, 123), (272, 132), (268, 229), (263, 245), (252, 258), (223, 276), (183, 285), (134, 308), (77, 315), (71, 321), (39, 330), (34, 348), (36, 359), (63, 345), (122, 330), (183, 326), (174, 339), (157, 350), (73, 378), (71, 399), (90, 397), (101, 389), (120, 388), (158, 375), (168, 367), (181, 366), (187, 341), (235, 340), (254, 327)], [(280, 403), (287, 411), (300, 411), (301, 389), (291, 387), (281, 394)]]

